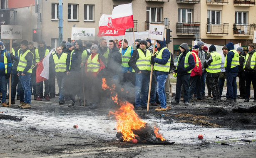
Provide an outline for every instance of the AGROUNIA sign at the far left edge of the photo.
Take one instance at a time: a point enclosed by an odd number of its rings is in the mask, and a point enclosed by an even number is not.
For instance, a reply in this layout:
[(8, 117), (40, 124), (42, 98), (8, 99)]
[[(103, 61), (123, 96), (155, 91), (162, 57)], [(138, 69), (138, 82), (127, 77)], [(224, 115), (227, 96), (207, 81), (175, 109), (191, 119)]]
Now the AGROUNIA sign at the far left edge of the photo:
[(22, 25), (1, 25), (1, 39), (22, 39)]

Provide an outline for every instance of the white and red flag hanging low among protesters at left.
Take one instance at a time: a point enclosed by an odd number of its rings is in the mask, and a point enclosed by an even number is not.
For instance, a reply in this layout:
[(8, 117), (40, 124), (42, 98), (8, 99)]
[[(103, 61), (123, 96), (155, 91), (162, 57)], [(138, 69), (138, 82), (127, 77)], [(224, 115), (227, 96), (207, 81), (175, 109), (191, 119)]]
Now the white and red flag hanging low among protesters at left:
[(52, 51), (49, 52), (38, 64), (36, 71), (36, 83), (49, 79), (49, 59)]

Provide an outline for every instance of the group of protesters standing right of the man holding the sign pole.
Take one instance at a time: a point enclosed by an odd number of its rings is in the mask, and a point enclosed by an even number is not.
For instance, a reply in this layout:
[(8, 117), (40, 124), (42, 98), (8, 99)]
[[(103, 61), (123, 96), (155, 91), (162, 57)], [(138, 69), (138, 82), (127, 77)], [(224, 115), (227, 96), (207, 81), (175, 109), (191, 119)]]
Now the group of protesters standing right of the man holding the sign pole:
[[(213, 97), (211, 102), (221, 102), (222, 91), (226, 79), (226, 100), (232, 103), (237, 99), (236, 77), (239, 77), (239, 99), (249, 102), (251, 83), (254, 87), (254, 102), (256, 102), (256, 50), (254, 44), (250, 44), (246, 54), (243, 47), (236, 50), (232, 42), (222, 47), (222, 54), (216, 52), (216, 47), (208, 48), (204, 42), (199, 41), (190, 52), (188, 44), (180, 45), (181, 54), (177, 67), (174, 70), (176, 82), (176, 97), (171, 103), (179, 104), (181, 91), (185, 105), (189, 102), (205, 101), (207, 97)], [(208, 95), (205, 96), (205, 83)]]

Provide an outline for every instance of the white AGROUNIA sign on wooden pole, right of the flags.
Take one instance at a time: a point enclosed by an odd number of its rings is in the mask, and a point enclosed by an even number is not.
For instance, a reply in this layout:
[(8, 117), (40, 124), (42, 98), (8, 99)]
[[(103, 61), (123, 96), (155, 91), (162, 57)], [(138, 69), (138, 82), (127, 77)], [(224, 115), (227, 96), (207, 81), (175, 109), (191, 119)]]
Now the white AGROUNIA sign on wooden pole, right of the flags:
[(150, 24), (148, 38), (163, 41), (164, 40), (164, 25)]

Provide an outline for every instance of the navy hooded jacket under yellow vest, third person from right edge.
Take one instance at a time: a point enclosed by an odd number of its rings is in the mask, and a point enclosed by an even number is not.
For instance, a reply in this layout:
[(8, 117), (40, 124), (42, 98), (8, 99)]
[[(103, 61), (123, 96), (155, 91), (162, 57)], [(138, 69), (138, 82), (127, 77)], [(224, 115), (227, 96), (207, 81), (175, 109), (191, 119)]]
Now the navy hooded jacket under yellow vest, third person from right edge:
[(234, 52), (232, 52), (230, 50), (235, 49), (234, 44), (232, 42), (229, 42), (226, 44), (226, 47), (228, 48), (228, 51), (229, 51), (228, 54), (226, 55), (226, 58), (227, 58), (226, 74), (229, 74), (229, 72), (231, 72), (231, 73), (238, 72), (238, 67), (230, 68), (232, 59), (235, 55)]

